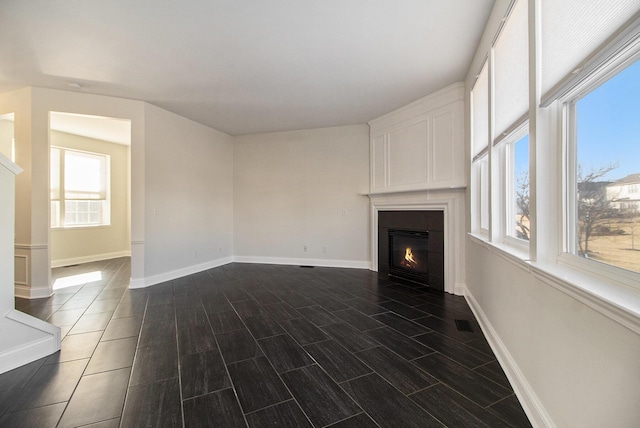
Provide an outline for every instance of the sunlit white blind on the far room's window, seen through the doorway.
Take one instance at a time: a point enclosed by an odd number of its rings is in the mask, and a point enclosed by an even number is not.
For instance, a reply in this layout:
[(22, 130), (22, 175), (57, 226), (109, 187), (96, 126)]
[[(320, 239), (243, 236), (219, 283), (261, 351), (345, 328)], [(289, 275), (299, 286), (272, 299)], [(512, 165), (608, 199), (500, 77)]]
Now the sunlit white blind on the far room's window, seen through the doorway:
[(108, 157), (64, 151), (64, 198), (106, 199)]

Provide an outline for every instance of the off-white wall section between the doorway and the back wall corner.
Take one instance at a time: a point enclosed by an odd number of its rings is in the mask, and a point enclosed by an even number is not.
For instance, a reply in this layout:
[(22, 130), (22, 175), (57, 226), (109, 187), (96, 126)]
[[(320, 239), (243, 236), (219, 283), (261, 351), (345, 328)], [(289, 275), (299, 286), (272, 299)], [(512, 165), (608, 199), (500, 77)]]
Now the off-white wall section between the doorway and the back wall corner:
[(145, 281), (134, 286), (233, 254), (232, 137), (149, 104), (145, 124)]

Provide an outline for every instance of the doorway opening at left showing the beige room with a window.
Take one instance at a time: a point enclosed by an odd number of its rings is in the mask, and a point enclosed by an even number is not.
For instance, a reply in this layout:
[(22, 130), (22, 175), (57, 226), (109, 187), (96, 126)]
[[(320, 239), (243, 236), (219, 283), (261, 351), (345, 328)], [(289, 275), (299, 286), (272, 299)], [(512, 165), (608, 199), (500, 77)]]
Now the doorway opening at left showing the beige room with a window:
[(49, 155), (51, 267), (130, 256), (131, 120), (51, 111)]

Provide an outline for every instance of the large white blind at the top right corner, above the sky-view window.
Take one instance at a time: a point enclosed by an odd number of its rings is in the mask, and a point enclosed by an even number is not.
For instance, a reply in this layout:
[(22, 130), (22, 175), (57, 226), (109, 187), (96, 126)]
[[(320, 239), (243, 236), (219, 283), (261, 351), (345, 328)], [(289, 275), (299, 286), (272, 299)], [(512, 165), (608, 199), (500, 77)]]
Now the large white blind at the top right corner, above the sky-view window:
[(640, 11), (640, 0), (541, 0), (543, 105)]

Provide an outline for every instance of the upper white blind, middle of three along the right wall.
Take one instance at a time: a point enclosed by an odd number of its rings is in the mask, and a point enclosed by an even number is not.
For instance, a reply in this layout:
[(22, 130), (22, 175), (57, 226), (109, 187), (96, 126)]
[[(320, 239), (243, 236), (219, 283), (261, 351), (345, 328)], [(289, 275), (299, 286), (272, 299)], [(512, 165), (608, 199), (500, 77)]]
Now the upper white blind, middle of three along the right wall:
[(519, 125), (529, 110), (527, 1), (513, 6), (494, 46), (495, 138)]

